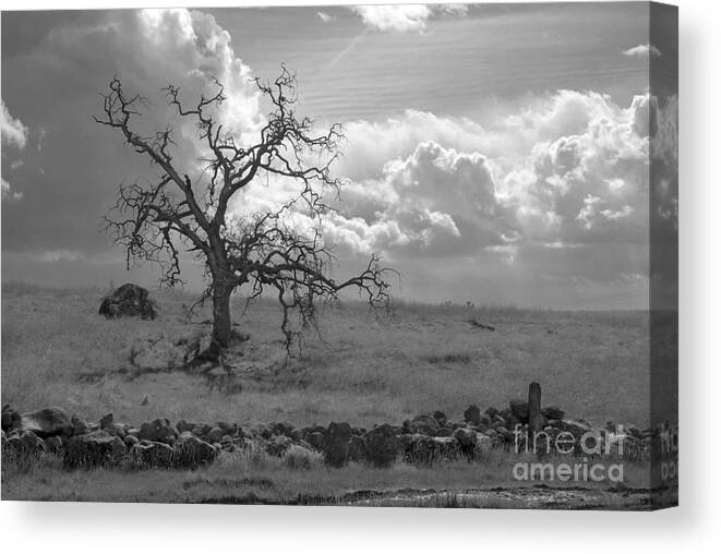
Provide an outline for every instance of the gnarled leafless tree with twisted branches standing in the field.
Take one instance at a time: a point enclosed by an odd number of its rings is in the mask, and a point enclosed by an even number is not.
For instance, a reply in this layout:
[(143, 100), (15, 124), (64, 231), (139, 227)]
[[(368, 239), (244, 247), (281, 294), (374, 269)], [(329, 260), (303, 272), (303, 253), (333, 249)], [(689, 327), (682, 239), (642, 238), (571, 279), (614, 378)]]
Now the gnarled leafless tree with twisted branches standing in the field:
[[(178, 87), (163, 89), (178, 117), (196, 125), (201, 146), (208, 153), (201, 158), (196, 182), (191, 181), (188, 167), (180, 167), (182, 160), (173, 158), (170, 124), (149, 136), (136, 131), (139, 110), (145, 103), (139, 95), (127, 94), (119, 79), (110, 82), (103, 95), (104, 113), (95, 118), (122, 133), (127, 144), (157, 169), (153, 182), (120, 186), (117, 204), (105, 218), (106, 230), (125, 248), (129, 267), (132, 262), (156, 262), (167, 286), (182, 282), (181, 252), (190, 252), (204, 263), (207, 288), (201, 302), (213, 300), (216, 353), (231, 339), (230, 297), (241, 287), (248, 289), (249, 300), (266, 290), (276, 296), (283, 308), (280, 327), (287, 349), (301, 333), (290, 323), (293, 311), (307, 327), (314, 323), (317, 303), (337, 299), (343, 289), (358, 289), (374, 306), (388, 301), (384, 278), (388, 269), (381, 267), (376, 255), (355, 277), (343, 281), (331, 277), (334, 257), (323, 240), (323, 217), (333, 209), (325, 198), (339, 197), (343, 184), (329, 171), (339, 155), (340, 125), (313, 134), (312, 121), (296, 116), (296, 77), (285, 67), (274, 82), (256, 79), (255, 84), (272, 108), (260, 140), (252, 145), (240, 144), (218, 122), (217, 108), (226, 97), (217, 80), (209, 83), (214, 94), (201, 95), (192, 107), (181, 101)], [(276, 210), (230, 217), (231, 198), (267, 178), (292, 179), (300, 192)], [(292, 225), (298, 213), (312, 221), (310, 230), (299, 231)]]

